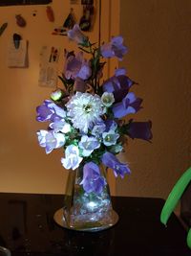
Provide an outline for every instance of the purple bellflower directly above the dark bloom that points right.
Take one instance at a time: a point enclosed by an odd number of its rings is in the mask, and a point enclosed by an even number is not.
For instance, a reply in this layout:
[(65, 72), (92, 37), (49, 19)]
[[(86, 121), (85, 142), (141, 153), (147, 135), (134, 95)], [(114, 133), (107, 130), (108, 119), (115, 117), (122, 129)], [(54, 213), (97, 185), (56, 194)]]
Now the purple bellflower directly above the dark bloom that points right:
[(136, 98), (133, 92), (129, 92), (121, 103), (113, 105), (112, 110), (114, 117), (121, 118), (128, 114), (135, 114), (140, 109), (142, 100)]

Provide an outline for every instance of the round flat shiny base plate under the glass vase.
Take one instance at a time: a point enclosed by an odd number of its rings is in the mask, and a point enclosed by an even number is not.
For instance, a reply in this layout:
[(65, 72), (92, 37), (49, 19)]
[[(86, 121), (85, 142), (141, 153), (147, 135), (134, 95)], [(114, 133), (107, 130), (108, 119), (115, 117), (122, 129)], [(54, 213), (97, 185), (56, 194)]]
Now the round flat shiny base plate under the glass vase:
[(118, 221), (118, 215), (117, 212), (115, 212), (114, 210), (112, 210), (112, 221), (109, 224), (101, 224), (98, 226), (88, 226), (88, 227), (70, 227), (67, 225), (64, 215), (63, 215), (63, 208), (58, 209), (54, 215), (53, 215), (53, 220), (60, 226), (70, 229), (70, 230), (75, 230), (75, 231), (85, 231), (85, 232), (96, 232), (96, 231), (101, 231), (101, 230), (105, 230), (108, 229), (112, 226), (114, 226), (117, 221)]

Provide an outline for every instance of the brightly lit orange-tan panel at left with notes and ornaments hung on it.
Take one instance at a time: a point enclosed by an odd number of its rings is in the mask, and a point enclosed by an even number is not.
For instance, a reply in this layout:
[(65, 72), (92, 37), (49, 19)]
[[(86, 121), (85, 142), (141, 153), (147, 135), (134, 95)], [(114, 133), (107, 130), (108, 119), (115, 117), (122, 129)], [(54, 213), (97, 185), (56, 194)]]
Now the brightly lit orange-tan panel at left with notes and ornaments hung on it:
[[(37, 143), (36, 130), (46, 128), (35, 121), (35, 108), (47, 99), (53, 88), (38, 86), (39, 53), (43, 45), (58, 46), (62, 50), (58, 68), (62, 71), (63, 50), (74, 49), (74, 42), (66, 36), (52, 35), (61, 26), (70, 11), (70, 1), (53, 0), (54, 23), (48, 21), (46, 6), (17, 6), (0, 8), (0, 24), (8, 28), (0, 37), (0, 191), (63, 194), (67, 171), (60, 158), (62, 151), (46, 155)], [(73, 6), (77, 19), (82, 15), (80, 1)], [(36, 16), (32, 13), (36, 12)], [(98, 1), (96, 20), (88, 35), (98, 41)], [(26, 28), (15, 24), (15, 14), (23, 14)], [(13, 33), (29, 40), (29, 68), (8, 68), (8, 42)]]

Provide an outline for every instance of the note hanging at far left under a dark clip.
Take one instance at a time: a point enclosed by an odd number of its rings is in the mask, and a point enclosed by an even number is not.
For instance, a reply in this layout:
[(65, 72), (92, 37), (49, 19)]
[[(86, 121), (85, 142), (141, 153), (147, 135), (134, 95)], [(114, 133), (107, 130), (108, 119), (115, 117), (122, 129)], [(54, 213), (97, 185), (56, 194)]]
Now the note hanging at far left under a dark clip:
[(16, 48), (11, 40), (8, 48), (8, 67), (28, 67), (28, 41), (20, 40)]

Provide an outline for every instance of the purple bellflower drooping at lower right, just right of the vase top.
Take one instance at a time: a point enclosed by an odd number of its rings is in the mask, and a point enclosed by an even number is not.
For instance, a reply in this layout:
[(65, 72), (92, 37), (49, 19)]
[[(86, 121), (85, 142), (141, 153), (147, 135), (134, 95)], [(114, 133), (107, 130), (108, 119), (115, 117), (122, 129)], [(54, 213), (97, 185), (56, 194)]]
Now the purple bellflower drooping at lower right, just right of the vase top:
[(115, 176), (120, 175), (121, 177), (124, 177), (125, 174), (131, 173), (129, 167), (124, 163), (120, 163), (117, 157), (111, 152), (105, 152), (102, 155), (101, 160), (106, 167), (111, 168), (114, 171)]

